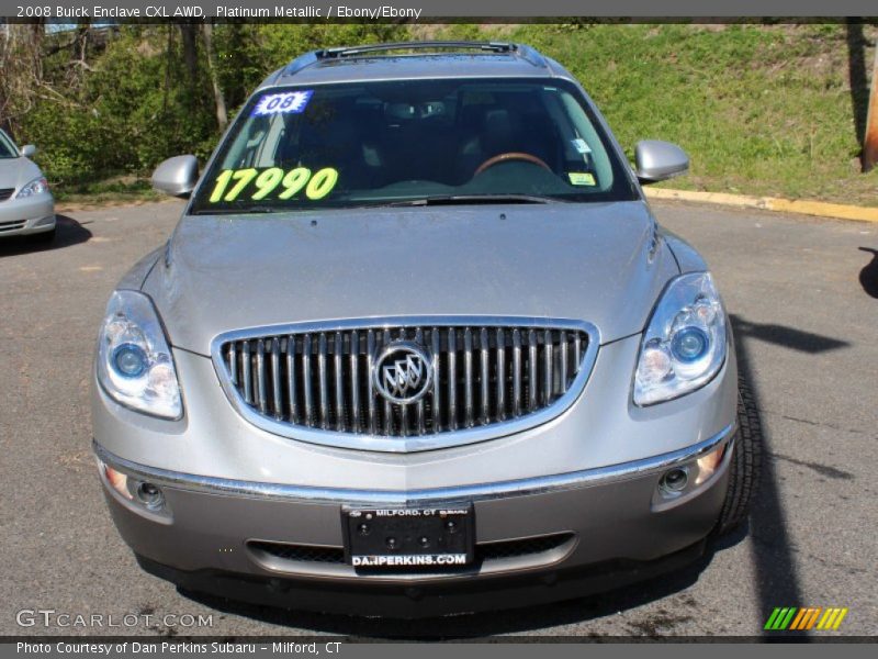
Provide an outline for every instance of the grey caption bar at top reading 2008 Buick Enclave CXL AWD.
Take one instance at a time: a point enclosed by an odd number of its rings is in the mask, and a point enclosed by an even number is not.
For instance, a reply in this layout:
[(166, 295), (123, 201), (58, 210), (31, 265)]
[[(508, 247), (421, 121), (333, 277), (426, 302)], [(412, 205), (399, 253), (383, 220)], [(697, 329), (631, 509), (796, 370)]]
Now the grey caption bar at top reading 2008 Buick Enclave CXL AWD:
[(876, 0), (403, 0), (390, 4), (345, 0), (290, 2), (284, 0), (0, 0), (0, 19), (35, 21), (79, 19), (105, 21), (165, 21), (192, 19), (299, 19), (393, 22), (452, 18), (832, 18), (876, 16)]

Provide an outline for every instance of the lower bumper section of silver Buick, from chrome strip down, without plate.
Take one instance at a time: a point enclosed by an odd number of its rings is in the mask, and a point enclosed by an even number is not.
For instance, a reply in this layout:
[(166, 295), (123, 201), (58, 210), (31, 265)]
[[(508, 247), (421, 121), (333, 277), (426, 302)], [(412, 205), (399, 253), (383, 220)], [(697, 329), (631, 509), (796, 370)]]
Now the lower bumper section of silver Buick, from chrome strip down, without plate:
[[(572, 597), (697, 558), (723, 503), (733, 443), (729, 426), (689, 449), (645, 460), (405, 493), (212, 479), (136, 465), (97, 443), (94, 449), (102, 466), (164, 491), (167, 511), (145, 511), (123, 500), (101, 469), (115, 524), (148, 571), (251, 602), (412, 617)], [(709, 480), (671, 503), (656, 502), (663, 473), (720, 448), (723, 459)], [(370, 572), (334, 558), (341, 556), (345, 504), (461, 502), (475, 507), (481, 558), (471, 567)], [(499, 547), (519, 549), (492, 550)], [(510, 599), (526, 591), (528, 599)]]

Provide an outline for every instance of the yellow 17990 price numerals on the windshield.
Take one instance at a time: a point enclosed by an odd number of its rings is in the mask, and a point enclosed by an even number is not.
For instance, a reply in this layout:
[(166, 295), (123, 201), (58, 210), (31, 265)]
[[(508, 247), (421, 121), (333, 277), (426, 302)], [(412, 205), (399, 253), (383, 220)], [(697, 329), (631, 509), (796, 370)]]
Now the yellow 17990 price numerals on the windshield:
[[(292, 199), (302, 190), (312, 201), (318, 201), (329, 194), (338, 182), (338, 170), (324, 167), (312, 174), (307, 167), (296, 167), (284, 171), (280, 167), (270, 167), (259, 171), (252, 167), (248, 169), (226, 169), (216, 177), (210, 202), (235, 201), (245, 190), (249, 199), (261, 201), (273, 194), (278, 189), (278, 199)], [(251, 186), (252, 183), (252, 186)], [(245, 194), (246, 199), (248, 196)]]

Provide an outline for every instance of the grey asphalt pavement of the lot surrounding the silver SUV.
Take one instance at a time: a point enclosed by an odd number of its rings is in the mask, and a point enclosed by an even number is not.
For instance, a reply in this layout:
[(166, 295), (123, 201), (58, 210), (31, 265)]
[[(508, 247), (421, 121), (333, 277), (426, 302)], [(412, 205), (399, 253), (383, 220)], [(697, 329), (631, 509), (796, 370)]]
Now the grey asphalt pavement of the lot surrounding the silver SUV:
[(753, 636), (776, 606), (847, 607), (830, 634), (876, 634), (878, 225), (653, 208), (707, 257), (733, 317), (766, 443), (748, 527), (645, 584), (415, 623), (183, 594), (116, 534), (90, 448), (92, 350), (115, 282), (167, 238), (179, 203), (67, 212), (49, 248), (0, 241), (0, 635)]

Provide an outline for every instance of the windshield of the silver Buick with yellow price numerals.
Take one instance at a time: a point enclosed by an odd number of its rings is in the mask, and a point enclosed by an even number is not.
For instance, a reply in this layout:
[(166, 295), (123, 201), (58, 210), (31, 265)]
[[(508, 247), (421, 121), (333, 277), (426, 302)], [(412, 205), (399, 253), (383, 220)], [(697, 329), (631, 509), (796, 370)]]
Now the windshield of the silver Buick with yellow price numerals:
[(397, 80), (256, 94), (192, 212), (631, 199), (573, 85)]

